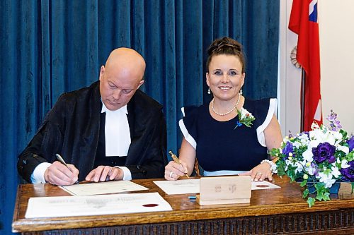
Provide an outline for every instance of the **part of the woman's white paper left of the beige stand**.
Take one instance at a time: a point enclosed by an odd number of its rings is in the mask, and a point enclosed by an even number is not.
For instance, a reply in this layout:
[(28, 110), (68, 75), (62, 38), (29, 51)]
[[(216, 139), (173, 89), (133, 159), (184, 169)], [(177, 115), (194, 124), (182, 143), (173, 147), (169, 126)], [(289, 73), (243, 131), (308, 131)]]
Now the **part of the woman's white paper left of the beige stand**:
[(167, 194), (199, 193), (199, 179), (181, 179), (178, 181), (154, 181)]

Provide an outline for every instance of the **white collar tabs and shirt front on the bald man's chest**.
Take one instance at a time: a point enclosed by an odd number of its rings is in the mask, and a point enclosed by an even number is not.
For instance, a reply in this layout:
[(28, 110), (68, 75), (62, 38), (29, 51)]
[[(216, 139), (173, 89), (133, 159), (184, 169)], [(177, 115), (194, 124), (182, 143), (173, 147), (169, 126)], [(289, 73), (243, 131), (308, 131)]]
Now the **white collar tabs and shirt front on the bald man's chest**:
[(127, 105), (110, 111), (103, 104), (102, 112), (105, 112), (105, 155), (127, 156), (131, 143)]

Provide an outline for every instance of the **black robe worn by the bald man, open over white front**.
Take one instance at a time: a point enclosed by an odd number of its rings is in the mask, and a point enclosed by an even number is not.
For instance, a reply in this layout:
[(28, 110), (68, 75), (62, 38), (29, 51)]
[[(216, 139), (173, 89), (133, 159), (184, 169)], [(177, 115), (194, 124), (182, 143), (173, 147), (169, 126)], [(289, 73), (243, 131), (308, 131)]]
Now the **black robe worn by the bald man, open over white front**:
[[(42, 162), (55, 162), (55, 154), (79, 169), (79, 180), (94, 169), (102, 109), (100, 82), (61, 95), (33, 139), (18, 157), (18, 173), (30, 175)], [(162, 106), (137, 90), (127, 104), (131, 144), (125, 166), (132, 179), (163, 178), (166, 165), (166, 121)], [(104, 125), (101, 125), (104, 126)], [(104, 131), (101, 130), (101, 133)], [(113, 166), (112, 166), (113, 167)]]

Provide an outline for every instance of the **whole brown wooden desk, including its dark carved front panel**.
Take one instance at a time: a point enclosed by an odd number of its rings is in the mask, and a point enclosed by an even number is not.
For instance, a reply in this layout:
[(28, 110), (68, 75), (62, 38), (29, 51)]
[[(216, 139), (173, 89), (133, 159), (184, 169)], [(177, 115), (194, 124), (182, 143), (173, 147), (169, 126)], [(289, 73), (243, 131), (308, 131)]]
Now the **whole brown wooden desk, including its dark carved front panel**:
[(166, 195), (152, 180), (135, 180), (159, 192), (168, 212), (25, 219), (28, 198), (69, 195), (49, 184), (18, 186), (13, 231), (23, 234), (354, 234), (354, 195), (342, 183), (331, 201), (309, 208), (302, 188), (275, 176), (282, 188), (252, 191), (249, 205), (200, 206), (188, 195)]

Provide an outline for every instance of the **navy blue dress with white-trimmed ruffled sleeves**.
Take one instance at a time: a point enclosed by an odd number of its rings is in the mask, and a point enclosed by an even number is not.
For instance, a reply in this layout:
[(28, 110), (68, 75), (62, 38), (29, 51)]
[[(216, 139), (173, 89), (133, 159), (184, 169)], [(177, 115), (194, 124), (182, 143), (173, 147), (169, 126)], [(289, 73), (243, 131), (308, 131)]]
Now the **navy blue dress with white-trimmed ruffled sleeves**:
[(209, 112), (209, 104), (182, 109), (180, 128), (196, 150), (200, 167), (205, 171), (249, 171), (267, 159), (264, 129), (275, 114), (276, 99), (245, 99), (244, 109), (256, 118), (251, 128), (235, 128), (239, 116), (229, 121), (217, 121)]

